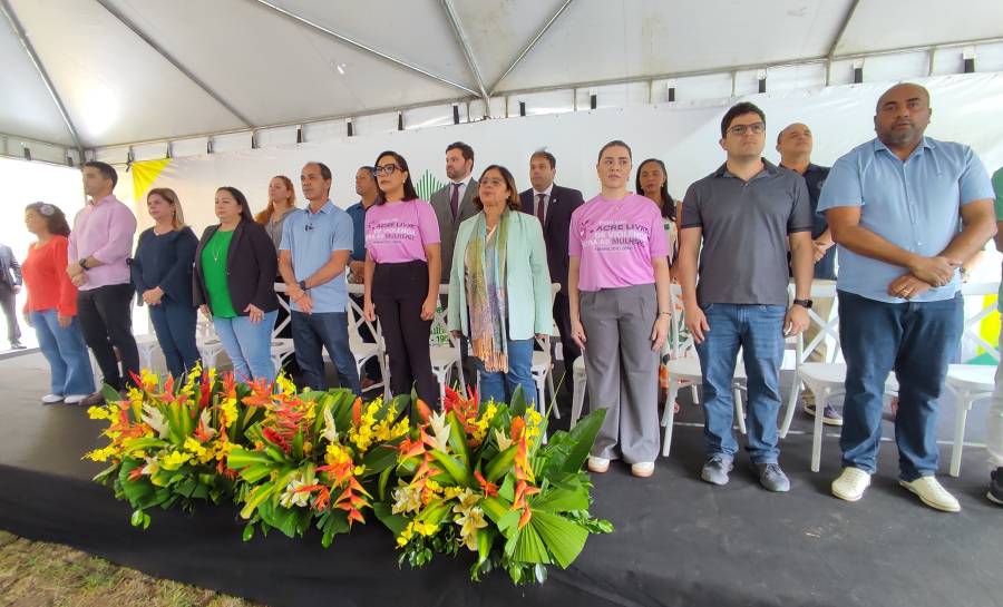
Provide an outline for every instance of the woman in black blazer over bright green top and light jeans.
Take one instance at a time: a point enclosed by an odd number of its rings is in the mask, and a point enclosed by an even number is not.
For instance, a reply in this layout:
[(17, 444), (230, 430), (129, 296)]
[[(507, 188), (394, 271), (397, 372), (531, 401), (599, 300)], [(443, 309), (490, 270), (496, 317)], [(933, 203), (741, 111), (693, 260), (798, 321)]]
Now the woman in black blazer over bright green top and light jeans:
[(237, 380), (271, 382), (279, 255), (241, 190), (217, 189), (215, 211), (220, 223), (205, 228), (195, 252), (195, 305), (213, 320)]

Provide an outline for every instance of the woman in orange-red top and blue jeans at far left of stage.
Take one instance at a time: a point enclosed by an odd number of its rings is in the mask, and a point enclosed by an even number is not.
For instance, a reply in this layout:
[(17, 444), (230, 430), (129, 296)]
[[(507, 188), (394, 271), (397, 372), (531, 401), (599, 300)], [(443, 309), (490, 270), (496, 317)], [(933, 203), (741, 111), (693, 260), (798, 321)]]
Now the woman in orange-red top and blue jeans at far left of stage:
[(38, 345), (52, 369), (51, 393), (42, 404), (78, 404), (95, 391), (90, 356), (77, 322), (77, 287), (66, 273), (69, 224), (56, 205), (32, 203), (25, 225), (38, 236), (28, 247), (21, 275), (28, 287), (25, 321), (35, 329)]

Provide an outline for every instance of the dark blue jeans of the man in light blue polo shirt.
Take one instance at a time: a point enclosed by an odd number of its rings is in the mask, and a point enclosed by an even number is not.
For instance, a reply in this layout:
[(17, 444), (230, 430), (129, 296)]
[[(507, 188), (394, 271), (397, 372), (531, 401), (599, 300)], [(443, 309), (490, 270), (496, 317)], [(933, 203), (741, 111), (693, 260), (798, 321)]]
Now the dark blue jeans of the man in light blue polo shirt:
[(362, 393), (359, 385), (359, 369), (356, 356), (348, 344), (348, 314), (345, 312), (314, 312), (306, 314), (293, 311), (293, 345), (296, 362), (303, 371), (303, 383), (313, 390), (327, 390), (322, 347), (334, 362), (339, 383), (356, 394)]

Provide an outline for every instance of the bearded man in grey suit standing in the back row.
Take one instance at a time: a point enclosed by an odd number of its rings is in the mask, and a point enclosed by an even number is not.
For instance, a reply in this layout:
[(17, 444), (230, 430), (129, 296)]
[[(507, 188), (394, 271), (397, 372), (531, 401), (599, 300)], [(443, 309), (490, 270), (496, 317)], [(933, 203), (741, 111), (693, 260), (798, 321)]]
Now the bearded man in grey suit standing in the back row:
[(462, 141), (446, 148), (446, 187), (431, 195), (432, 208), (439, 219), (439, 237), (442, 239), (442, 284), (449, 284), (452, 270), (452, 247), (456, 233), (465, 219), (477, 215), (473, 199), (477, 195), (474, 173), (474, 148)]

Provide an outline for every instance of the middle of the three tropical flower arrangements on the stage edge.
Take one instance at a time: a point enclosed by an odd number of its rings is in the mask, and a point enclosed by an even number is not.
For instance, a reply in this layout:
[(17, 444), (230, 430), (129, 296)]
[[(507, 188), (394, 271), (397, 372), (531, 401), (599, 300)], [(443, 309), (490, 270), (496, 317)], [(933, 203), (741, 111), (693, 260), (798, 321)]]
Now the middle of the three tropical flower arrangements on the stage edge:
[(410, 430), (401, 418), (408, 401), (363, 404), (349, 390), (294, 389), (244, 399), (264, 408), (264, 418), (247, 431), (253, 446), (234, 449), (226, 460), (240, 473), (235, 497), (250, 521), (244, 539), (255, 526), (302, 536), (315, 520), (328, 547), (337, 533), (364, 523), (363, 511), (372, 508), (364, 486), (393, 466), (396, 446)]

